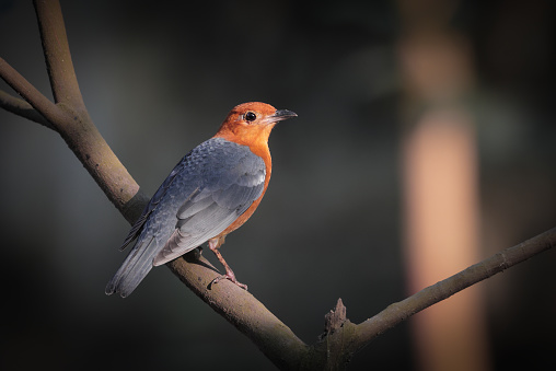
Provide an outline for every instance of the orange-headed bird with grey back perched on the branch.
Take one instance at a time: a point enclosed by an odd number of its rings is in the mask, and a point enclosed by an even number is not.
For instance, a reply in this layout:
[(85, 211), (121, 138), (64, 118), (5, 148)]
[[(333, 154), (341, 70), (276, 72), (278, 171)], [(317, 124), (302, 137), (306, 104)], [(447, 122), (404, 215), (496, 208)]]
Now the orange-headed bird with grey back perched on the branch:
[(273, 164), (268, 137), (278, 121), (298, 116), (262, 102), (230, 111), (217, 134), (189, 151), (172, 170), (134, 223), (120, 250), (134, 243), (106, 286), (128, 297), (154, 266), (208, 242), (225, 269), (211, 283), (235, 278), (219, 248), (260, 204)]

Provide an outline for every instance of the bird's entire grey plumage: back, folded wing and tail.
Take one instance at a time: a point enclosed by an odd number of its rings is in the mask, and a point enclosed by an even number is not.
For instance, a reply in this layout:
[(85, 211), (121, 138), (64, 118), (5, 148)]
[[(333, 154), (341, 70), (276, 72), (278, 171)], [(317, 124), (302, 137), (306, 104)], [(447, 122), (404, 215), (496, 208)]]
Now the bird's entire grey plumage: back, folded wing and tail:
[(174, 167), (131, 228), (123, 247), (137, 240), (106, 287), (129, 295), (153, 266), (167, 263), (217, 236), (264, 190), (266, 166), (248, 147), (209, 139)]

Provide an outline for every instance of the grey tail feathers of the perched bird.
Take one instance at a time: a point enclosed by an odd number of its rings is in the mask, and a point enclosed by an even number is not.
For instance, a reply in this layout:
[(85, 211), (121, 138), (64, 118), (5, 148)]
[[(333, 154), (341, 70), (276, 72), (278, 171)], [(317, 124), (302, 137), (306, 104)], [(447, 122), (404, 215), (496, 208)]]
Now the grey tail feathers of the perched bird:
[[(146, 243), (147, 245), (144, 245)], [(155, 240), (151, 237), (134, 246), (121, 267), (106, 285), (105, 292), (107, 295), (117, 292), (121, 298), (126, 298), (134, 292), (144, 276), (152, 269), (152, 260), (157, 255), (157, 248), (153, 244), (155, 244)]]

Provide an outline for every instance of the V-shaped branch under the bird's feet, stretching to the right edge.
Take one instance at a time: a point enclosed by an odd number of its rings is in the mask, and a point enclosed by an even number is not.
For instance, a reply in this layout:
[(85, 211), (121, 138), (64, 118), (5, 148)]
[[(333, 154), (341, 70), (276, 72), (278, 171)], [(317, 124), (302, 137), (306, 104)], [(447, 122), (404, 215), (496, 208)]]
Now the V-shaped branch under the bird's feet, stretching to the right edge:
[(251, 338), (280, 369), (341, 370), (357, 351), (398, 323), (555, 245), (556, 228), (393, 303), (359, 325), (346, 320), (346, 308), (338, 300), (335, 311), (326, 315), (327, 333), (313, 346), (301, 341), (247, 291), (228, 281), (211, 287), (210, 282), (219, 274), (198, 253), (173, 260), (169, 267), (200, 299)]

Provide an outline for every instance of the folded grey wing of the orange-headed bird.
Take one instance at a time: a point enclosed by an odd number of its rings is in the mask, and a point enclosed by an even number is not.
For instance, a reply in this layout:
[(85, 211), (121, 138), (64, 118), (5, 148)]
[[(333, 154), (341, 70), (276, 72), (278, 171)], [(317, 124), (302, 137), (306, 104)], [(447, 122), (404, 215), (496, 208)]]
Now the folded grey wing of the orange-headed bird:
[(247, 147), (225, 142), (207, 164), (202, 187), (177, 210), (175, 230), (153, 265), (167, 263), (225, 230), (264, 190), (266, 166)]

